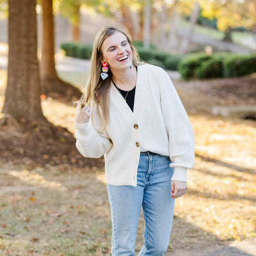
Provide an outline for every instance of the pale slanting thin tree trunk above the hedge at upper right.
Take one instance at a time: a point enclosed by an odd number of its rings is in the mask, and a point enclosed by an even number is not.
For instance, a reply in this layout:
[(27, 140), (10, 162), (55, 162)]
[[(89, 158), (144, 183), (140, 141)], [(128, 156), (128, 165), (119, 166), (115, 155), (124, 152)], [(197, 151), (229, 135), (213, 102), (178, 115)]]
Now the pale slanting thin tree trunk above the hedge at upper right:
[(193, 31), (195, 28), (196, 20), (198, 19), (199, 11), (200, 11), (200, 6), (199, 6), (199, 3), (196, 2), (194, 5), (193, 12), (191, 14), (190, 20), (189, 20), (188, 34), (182, 40), (182, 43), (181, 43), (181, 47), (180, 47), (181, 53), (185, 53), (185, 52), (189, 51), (189, 44), (190, 44), (191, 38), (193, 36)]

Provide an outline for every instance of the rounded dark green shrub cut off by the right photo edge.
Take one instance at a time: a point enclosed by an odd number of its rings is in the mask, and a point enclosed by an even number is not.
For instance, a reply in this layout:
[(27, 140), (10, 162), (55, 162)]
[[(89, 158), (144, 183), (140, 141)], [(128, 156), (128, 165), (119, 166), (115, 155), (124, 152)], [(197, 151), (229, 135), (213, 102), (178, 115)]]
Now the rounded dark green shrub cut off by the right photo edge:
[(236, 55), (223, 61), (224, 77), (246, 76), (256, 72), (256, 54)]

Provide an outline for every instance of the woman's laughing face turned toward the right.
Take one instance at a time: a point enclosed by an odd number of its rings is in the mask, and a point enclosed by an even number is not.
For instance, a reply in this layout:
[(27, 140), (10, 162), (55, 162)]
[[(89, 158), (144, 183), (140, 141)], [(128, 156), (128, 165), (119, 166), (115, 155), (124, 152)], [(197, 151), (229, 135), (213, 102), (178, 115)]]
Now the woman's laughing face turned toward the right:
[(106, 38), (101, 47), (103, 60), (111, 72), (124, 70), (132, 65), (132, 49), (126, 36), (118, 31)]

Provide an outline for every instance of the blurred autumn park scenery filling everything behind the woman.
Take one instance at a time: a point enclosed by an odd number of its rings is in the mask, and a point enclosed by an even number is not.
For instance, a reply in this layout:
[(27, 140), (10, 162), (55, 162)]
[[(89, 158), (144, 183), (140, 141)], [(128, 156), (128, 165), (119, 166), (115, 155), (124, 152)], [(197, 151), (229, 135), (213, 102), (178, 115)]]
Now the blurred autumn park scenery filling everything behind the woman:
[(166, 255), (256, 255), (255, 13), (256, 0), (0, 0), (0, 254), (111, 255), (104, 159), (74, 138), (111, 25), (166, 70), (195, 132)]

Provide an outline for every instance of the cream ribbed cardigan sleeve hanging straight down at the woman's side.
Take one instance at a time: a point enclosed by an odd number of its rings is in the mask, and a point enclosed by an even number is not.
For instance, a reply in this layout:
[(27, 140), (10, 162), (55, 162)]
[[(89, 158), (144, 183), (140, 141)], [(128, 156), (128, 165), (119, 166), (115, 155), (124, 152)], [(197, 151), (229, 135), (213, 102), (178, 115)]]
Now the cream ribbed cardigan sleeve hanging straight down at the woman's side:
[(168, 74), (156, 68), (161, 108), (169, 138), (169, 156), (174, 167), (172, 180), (186, 181), (186, 168), (195, 163), (195, 138), (188, 115)]

